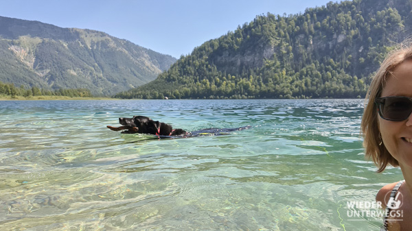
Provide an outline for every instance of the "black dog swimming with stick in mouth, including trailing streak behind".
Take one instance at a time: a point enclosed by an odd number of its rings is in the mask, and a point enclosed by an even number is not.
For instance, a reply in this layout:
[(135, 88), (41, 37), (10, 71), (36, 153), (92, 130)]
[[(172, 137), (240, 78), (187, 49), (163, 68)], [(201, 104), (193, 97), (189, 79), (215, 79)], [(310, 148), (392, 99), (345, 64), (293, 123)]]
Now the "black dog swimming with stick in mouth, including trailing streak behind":
[(159, 121), (153, 121), (149, 117), (135, 116), (133, 118), (119, 118), (119, 123), (122, 125), (120, 127), (107, 126), (108, 129), (113, 131), (123, 131), (122, 133), (134, 134), (152, 134), (156, 136), (181, 136), (181, 137), (192, 137), (192, 136), (218, 136), (226, 135), (229, 132), (239, 131), (243, 129), (248, 129), (250, 126), (238, 127), (238, 128), (209, 128), (204, 130), (198, 130), (196, 132), (186, 132), (183, 129), (173, 129), (173, 127), (167, 123), (161, 123)]

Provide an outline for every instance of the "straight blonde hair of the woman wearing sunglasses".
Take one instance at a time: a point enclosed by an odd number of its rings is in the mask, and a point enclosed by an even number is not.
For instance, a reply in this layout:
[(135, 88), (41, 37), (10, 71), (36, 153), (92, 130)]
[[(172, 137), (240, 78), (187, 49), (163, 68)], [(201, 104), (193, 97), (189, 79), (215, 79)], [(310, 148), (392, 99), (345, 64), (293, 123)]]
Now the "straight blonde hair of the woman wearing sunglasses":
[(382, 64), (380, 64), (380, 68), (372, 77), (371, 86), (369, 86), (365, 98), (366, 106), (361, 122), (363, 147), (365, 147), (365, 156), (374, 160), (378, 166), (378, 173), (384, 171), (388, 164), (398, 167), (399, 162), (391, 156), (385, 145), (382, 144), (378, 125), (378, 109), (374, 101), (377, 97), (380, 97), (387, 78), (392, 75), (396, 67), (404, 60), (409, 59), (412, 59), (411, 39), (407, 40), (407, 42), (402, 42), (396, 49), (393, 49)]

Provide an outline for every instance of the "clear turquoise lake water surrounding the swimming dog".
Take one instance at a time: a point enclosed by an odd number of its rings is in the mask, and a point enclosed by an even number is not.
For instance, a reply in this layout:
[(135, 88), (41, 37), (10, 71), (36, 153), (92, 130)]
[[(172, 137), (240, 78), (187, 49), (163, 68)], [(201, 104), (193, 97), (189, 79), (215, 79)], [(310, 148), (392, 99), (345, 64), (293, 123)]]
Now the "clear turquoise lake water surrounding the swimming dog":
[[(363, 99), (0, 101), (1, 230), (379, 230)], [(225, 136), (106, 128), (145, 115)]]

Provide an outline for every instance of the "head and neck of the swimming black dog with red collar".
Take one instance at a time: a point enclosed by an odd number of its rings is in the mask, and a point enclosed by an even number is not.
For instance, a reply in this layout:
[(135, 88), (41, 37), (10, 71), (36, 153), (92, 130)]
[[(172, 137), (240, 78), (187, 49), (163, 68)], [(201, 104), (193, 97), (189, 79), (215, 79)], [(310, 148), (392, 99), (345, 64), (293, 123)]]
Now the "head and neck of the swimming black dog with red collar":
[(172, 126), (153, 121), (149, 117), (135, 116), (133, 118), (119, 118), (119, 123), (127, 127), (137, 127), (137, 133), (161, 134), (168, 136), (172, 132)]

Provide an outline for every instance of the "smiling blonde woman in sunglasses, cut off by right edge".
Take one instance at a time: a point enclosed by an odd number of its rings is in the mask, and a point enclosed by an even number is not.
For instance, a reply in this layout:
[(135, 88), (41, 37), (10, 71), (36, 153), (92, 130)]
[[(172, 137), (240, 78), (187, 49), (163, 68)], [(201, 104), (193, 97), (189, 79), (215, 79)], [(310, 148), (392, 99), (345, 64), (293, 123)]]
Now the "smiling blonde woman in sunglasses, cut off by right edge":
[(382, 62), (369, 88), (361, 129), (365, 155), (378, 165), (400, 167), (404, 180), (376, 195), (386, 217), (382, 230), (412, 230), (412, 44)]

